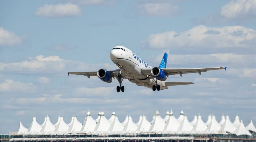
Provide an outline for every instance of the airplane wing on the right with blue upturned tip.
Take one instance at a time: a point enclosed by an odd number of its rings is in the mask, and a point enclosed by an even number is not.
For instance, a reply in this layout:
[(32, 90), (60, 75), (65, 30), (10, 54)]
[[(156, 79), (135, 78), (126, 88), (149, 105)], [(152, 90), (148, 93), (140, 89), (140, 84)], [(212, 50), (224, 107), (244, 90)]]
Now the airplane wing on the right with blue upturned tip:
[[(169, 76), (169, 75), (175, 75), (175, 74), (179, 74), (180, 76), (182, 76), (182, 74), (186, 74), (186, 73), (198, 73), (201, 75), (201, 72), (206, 72), (206, 71), (211, 71), (211, 70), (221, 70), (221, 69), (225, 69), (226, 70), (227, 67), (223, 68), (223, 67), (217, 67), (217, 68), (197, 68), (197, 69), (164, 69), (161, 68), (164, 73)], [(144, 75), (152, 75), (151, 74), (151, 69), (142, 69), (142, 73)]]

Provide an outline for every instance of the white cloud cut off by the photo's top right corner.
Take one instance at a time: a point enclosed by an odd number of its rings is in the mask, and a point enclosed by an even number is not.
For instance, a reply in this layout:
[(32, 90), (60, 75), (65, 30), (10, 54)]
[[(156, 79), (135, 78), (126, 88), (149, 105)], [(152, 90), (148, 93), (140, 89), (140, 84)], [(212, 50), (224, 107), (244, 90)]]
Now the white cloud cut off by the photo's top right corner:
[(256, 18), (255, 0), (231, 0), (221, 7), (220, 15), (228, 19)]

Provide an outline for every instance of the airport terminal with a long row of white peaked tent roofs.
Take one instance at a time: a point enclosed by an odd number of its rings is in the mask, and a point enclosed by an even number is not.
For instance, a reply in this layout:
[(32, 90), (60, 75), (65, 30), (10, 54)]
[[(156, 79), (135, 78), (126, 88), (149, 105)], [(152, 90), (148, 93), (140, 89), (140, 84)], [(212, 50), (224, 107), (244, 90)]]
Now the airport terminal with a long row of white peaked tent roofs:
[(195, 115), (192, 121), (181, 110), (176, 119), (172, 110), (167, 111), (162, 118), (158, 111), (150, 122), (146, 116), (141, 115), (138, 122), (133, 122), (132, 116), (126, 116), (124, 121), (119, 121), (115, 112), (107, 119), (103, 111), (100, 111), (94, 120), (88, 110), (83, 123), (76, 116), (72, 116), (70, 123), (66, 123), (62, 116), (53, 124), (46, 116), (44, 123), (38, 124), (36, 117), (32, 119), (29, 127), (22, 122), (17, 125), (16, 132), (2, 135), (1, 141), (25, 142), (25, 141), (255, 141), (256, 128), (251, 121), (244, 124), (235, 117), (230, 121), (228, 115), (222, 116), (218, 122), (214, 115), (209, 115), (206, 122), (201, 115)]

